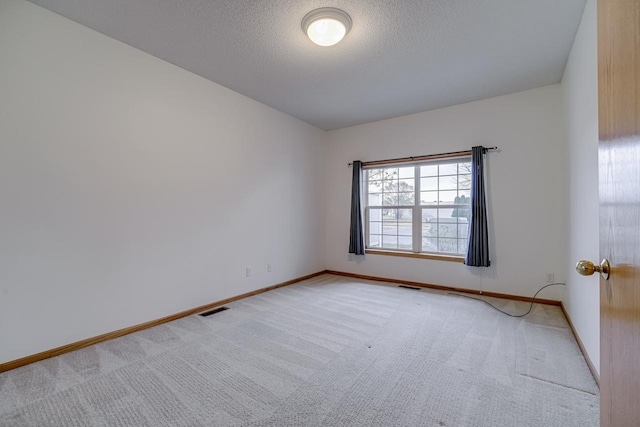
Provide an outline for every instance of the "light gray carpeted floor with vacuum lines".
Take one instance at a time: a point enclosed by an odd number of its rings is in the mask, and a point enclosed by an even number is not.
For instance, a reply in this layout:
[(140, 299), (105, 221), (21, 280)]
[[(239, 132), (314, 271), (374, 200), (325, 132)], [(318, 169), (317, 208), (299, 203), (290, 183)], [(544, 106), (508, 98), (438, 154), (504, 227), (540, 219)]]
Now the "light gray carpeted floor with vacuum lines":
[(227, 306), (0, 374), (0, 425), (598, 425), (559, 307), (331, 275)]

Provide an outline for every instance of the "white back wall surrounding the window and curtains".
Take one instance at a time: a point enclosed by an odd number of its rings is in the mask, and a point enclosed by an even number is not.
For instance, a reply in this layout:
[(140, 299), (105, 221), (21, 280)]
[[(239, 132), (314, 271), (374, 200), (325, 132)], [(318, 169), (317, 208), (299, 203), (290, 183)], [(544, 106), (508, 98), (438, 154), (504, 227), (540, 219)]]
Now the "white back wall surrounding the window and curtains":
[[(562, 89), (552, 85), (329, 133), (327, 268), (533, 296), (545, 273), (562, 281), (565, 197)], [(348, 255), (352, 160), (498, 146), (487, 155), (490, 268), (382, 255)], [(544, 290), (557, 299), (562, 287)]]

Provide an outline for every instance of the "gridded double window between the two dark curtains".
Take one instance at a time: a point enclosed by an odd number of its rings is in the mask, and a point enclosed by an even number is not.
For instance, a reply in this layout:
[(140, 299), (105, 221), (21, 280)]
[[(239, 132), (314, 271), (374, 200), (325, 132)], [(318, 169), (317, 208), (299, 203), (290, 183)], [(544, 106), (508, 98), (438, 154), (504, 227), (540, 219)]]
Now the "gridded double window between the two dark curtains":
[(366, 247), (464, 256), (471, 216), (471, 159), (367, 166)]

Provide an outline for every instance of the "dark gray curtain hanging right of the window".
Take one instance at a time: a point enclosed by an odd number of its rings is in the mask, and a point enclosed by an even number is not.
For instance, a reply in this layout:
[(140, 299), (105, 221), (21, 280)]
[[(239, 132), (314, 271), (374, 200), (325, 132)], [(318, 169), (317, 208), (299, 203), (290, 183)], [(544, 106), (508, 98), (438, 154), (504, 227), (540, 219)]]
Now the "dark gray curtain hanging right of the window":
[(484, 189), (484, 153), (486, 148), (473, 147), (471, 153), (471, 223), (469, 246), (464, 263), (473, 267), (489, 267), (489, 229)]

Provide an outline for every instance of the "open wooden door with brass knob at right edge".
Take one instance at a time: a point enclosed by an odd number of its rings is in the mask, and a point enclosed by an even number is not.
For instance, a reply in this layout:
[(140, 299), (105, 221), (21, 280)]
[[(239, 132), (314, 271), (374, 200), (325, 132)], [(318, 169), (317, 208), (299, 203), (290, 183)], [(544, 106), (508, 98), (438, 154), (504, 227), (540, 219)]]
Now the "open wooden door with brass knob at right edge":
[(640, 426), (640, 0), (598, 0), (598, 85), (600, 425)]

